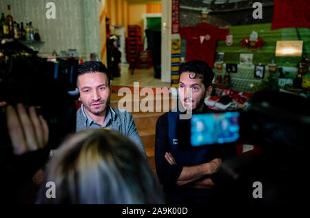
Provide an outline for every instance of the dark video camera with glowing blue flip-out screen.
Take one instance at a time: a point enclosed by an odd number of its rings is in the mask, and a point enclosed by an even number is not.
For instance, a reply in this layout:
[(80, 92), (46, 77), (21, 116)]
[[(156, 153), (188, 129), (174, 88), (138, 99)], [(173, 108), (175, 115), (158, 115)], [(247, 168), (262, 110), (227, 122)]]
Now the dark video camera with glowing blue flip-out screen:
[(191, 145), (249, 141), (266, 150), (300, 149), (310, 132), (310, 101), (284, 92), (256, 92), (242, 110), (193, 115)]

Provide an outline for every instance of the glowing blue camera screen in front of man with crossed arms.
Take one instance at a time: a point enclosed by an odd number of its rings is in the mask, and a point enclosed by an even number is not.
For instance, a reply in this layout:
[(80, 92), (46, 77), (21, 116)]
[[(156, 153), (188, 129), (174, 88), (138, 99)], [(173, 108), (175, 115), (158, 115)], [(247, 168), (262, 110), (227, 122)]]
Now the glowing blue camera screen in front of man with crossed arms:
[(240, 112), (218, 112), (193, 115), (191, 121), (192, 146), (231, 143), (240, 137)]

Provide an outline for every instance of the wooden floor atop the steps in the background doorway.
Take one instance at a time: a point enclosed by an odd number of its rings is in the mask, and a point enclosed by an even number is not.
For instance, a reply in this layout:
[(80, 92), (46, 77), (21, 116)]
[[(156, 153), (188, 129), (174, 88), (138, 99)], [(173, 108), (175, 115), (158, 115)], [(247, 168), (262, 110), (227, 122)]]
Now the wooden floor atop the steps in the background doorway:
[(170, 83), (163, 83), (161, 79), (154, 78), (154, 68), (136, 69), (134, 75), (127, 64), (121, 66), (121, 77), (114, 78), (112, 86), (134, 86), (134, 82), (139, 82), (140, 87), (149, 88), (170, 88)]

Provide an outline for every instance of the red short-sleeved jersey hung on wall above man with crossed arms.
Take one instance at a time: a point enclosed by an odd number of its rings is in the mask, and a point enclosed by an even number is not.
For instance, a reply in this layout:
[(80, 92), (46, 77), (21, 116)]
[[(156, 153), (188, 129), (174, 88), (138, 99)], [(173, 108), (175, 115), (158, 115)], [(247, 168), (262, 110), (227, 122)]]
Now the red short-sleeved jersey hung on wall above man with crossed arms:
[(214, 68), (216, 41), (225, 40), (228, 29), (199, 23), (198, 26), (180, 28), (180, 37), (186, 39), (186, 61), (201, 60)]

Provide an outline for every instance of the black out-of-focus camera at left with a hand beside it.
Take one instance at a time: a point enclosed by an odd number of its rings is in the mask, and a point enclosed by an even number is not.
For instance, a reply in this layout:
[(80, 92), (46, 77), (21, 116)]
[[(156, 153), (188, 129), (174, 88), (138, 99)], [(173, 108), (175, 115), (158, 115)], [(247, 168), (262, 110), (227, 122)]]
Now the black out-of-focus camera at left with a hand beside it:
[[(78, 60), (59, 58), (54, 61), (37, 56), (20, 41), (0, 45), (0, 102), (39, 106), (50, 129), (50, 145), (57, 146), (65, 135), (75, 131), (76, 97), (69, 92), (76, 88)], [(10, 145), (5, 108), (0, 111), (0, 145)]]

